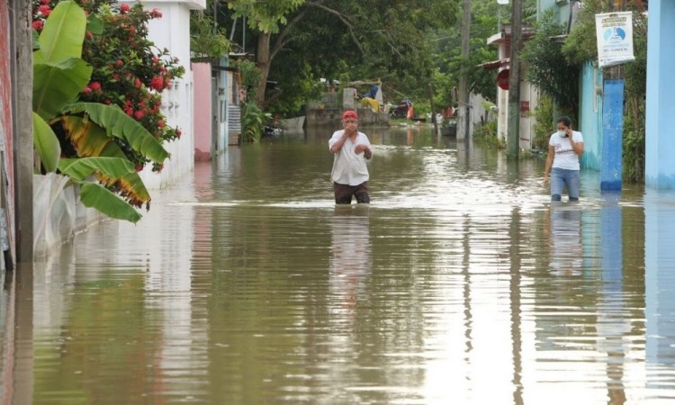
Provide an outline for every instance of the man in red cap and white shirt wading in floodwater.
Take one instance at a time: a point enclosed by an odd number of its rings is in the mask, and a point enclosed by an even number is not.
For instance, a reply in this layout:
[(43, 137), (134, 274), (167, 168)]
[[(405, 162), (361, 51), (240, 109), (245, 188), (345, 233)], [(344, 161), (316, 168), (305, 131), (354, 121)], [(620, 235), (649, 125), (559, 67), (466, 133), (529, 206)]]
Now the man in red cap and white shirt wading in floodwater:
[(336, 130), (329, 140), (330, 152), (335, 155), (333, 171), (330, 179), (333, 181), (335, 202), (337, 204), (352, 203), (352, 196), (356, 202), (370, 203), (368, 195), (368, 167), (365, 162), (373, 157), (370, 141), (365, 133), (356, 130), (358, 114), (347, 110), (342, 114), (344, 130)]

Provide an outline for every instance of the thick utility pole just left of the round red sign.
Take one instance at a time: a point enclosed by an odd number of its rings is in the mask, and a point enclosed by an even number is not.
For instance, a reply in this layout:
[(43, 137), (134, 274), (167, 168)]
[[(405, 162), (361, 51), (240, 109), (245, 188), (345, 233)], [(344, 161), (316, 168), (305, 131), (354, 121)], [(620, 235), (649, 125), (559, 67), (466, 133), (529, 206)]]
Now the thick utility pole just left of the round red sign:
[(507, 157), (518, 160), (520, 143), (520, 47), (523, 37), (523, 0), (513, 0), (511, 62), (509, 66), (509, 133)]

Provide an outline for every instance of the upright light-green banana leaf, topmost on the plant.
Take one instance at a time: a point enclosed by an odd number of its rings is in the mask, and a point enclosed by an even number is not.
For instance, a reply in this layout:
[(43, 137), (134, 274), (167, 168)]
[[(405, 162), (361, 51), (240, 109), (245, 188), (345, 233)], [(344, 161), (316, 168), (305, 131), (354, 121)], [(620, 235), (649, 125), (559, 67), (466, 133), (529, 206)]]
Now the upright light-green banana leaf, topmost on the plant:
[(72, 1), (58, 3), (40, 33), (40, 49), (33, 54), (33, 64), (81, 58), (85, 30), (85, 11)]

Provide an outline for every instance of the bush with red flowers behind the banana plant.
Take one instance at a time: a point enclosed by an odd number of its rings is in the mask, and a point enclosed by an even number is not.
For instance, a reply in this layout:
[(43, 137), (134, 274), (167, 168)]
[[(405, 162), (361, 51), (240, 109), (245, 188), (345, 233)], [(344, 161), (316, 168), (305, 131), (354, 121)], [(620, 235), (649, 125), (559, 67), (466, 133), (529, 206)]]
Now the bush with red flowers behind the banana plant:
[[(34, 0), (33, 28), (38, 33), (58, 1)], [(140, 3), (117, 5), (114, 1), (76, 0), (88, 15), (82, 58), (93, 67), (91, 81), (79, 100), (116, 104), (160, 142), (181, 137), (181, 130), (166, 125), (161, 94), (175, 78), (184, 75), (178, 58), (168, 49), (157, 49), (148, 40), (148, 21), (162, 17), (157, 9)], [(150, 160), (124, 139), (115, 138), (125, 155), (141, 170)], [(67, 157), (76, 156), (76, 145), (62, 145)], [(154, 163), (153, 170), (163, 164)]]

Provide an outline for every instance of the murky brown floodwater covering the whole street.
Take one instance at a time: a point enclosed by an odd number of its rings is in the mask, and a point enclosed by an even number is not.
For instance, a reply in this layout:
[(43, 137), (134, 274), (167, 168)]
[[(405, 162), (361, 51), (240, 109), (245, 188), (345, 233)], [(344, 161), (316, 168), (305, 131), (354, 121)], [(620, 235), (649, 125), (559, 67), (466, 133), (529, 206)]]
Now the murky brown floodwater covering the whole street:
[(542, 160), (362, 130), (370, 206), (313, 130), (8, 275), (2, 404), (675, 403), (675, 195), (551, 204)]

